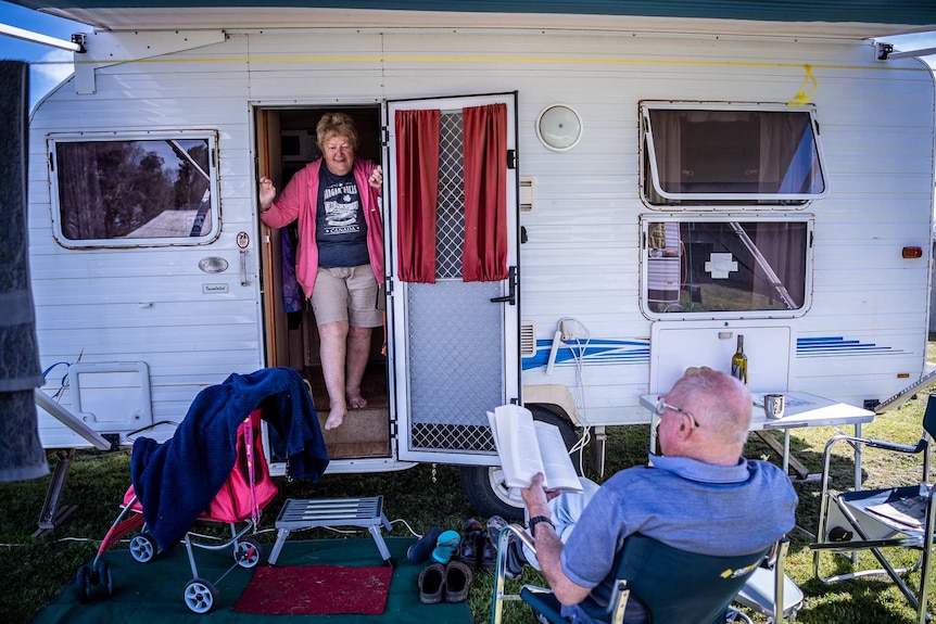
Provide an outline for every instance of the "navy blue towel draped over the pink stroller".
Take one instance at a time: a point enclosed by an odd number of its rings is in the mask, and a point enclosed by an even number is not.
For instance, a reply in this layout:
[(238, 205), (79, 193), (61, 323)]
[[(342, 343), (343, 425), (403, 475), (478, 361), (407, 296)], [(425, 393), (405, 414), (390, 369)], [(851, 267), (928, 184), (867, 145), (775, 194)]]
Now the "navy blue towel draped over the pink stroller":
[(163, 550), (207, 509), (237, 461), (237, 431), (257, 407), (286, 443), (292, 479), (318, 480), (328, 454), (305, 384), (291, 368), (233, 373), (202, 390), (172, 438), (134, 443), (130, 477), (149, 531)]

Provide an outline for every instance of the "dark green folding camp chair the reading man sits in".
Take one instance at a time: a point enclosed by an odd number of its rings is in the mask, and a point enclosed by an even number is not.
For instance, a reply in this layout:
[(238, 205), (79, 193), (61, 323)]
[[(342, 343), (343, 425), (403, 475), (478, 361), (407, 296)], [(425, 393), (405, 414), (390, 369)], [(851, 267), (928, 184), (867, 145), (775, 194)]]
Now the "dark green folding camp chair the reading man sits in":
[[(501, 623), (505, 600), (528, 602), (541, 621), (567, 623), (561, 615), (561, 604), (548, 589), (524, 585), (520, 594), (504, 593), (507, 543), (511, 533), (531, 549), (534, 547), (530, 535), (518, 524), (501, 532), (491, 623)], [(785, 550), (781, 549), (781, 557), (783, 552)], [(593, 617), (620, 624), (628, 600), (633, 597), (646, 608), (652, 624), (722, 624), (732, 600), (767, 553), (764, 550), (739, 557), (710, 557), (679, 550), (644, 535), (632, 535), (620, 553), (609, 604), (602, 607), (586, 598), (581, 606)], [(782, 598), (780, 602), (783, 603)], [(749, 622), (744, 614), (731, 611)]]

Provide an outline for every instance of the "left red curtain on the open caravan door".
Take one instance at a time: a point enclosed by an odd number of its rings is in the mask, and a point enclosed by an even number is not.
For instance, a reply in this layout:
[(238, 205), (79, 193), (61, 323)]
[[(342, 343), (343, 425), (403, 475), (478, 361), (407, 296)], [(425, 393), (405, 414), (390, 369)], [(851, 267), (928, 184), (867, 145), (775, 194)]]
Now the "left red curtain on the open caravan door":
[(435, 283), (440, 112), (396, 111), (400, 279)]

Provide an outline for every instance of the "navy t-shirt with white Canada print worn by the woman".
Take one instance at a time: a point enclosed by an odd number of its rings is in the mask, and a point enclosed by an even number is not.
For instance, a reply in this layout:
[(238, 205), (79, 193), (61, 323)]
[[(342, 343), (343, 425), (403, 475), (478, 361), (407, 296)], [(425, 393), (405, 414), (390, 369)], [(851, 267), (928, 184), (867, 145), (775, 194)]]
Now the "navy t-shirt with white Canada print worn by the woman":
[(336, 176), (322, 163), (315, 219), (318, 266), (356, 267), (370, 263), (367, 224), (353, 171)]

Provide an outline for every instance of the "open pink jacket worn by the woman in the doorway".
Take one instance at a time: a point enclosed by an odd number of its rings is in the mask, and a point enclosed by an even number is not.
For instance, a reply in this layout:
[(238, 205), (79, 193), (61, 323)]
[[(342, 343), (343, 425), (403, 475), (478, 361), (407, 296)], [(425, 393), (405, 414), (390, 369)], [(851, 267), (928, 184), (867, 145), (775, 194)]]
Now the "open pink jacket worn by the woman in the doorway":
[[(295, 278), (306, 297), (312, 296), (318, 272), (318, 246), (315, 244), (315, 211), (318, 199), (318, 171), (322, 160), (313, 161), (295, 174), (270, 208), (260, 218), (271, 228), (281, 228), (299, 219), (299, 249), (295, 255)], [(378, 189), (367, 178), (377, 167), (370, 161), (354, 160), (354, 181), (367, 222), (367, 253), (377, 283), (383, 283), (383, 221), (380, 220)]]

